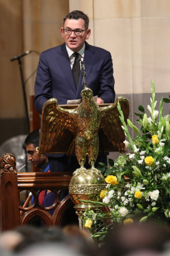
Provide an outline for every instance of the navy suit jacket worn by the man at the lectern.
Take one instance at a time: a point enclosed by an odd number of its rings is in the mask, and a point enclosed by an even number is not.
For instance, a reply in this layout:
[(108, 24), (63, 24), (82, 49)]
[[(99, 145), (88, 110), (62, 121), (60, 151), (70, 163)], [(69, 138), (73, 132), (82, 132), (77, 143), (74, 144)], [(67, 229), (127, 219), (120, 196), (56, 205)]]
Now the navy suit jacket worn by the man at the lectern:
[[(104, 103), (113, 103), (115, 91), (111, 53), (85, 42), (83, 62), (87, 86), (93, 90), (93, 95), (98, 95)], [(41, 53), (34, 98), (35, 108), (40, 114), (49, 98), (57, 98), (58, 104), (67, 104), (67, 100), (81, 98), (82, 89), (81, 75), (76, 89), (65, 43)]]

